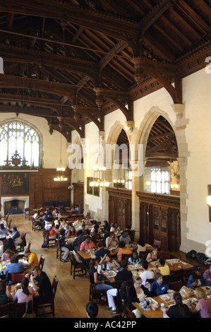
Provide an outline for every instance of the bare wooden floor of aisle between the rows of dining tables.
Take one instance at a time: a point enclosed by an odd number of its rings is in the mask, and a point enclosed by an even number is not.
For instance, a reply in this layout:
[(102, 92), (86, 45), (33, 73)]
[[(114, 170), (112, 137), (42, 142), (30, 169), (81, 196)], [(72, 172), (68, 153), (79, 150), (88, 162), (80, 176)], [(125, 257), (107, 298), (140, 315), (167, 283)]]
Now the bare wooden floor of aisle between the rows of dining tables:
[[(59, 280), (55, 297), (55, 318), (87, 318), (85, 305), (89, 301), (88, 278), (71, 275), (71, 262), (63, 263), (56, 259), (56, 248), (42, 248), (42, 231), (32, 231), (31, 220), (25, 220), (24, 215), (12, 216), (12, 224), (19, 232), (27, 232), (26, 241), (31, 241), (30, 249), (35, 251), (38, 259), (45, 258), (43, 271), (52, 281), (54, 275)], [(114, 314), (107, 312), (107, 304), (99, 305), (99, 318), (111, 318)], [(47, 316), (44, 316), (45, 318)], [(49, 315), (52, 318), (52, 315)]]

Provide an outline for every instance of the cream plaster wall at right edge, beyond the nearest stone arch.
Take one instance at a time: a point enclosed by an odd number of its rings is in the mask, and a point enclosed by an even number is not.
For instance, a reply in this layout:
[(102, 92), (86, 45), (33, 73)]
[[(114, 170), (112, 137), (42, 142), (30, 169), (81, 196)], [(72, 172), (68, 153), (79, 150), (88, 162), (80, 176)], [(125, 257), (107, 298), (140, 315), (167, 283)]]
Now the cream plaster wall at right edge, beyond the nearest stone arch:
[(211, 239), (206, 205), (207, 184), (211, 184), (211, 73), (205, 69), (183, 80), (183, 103), (189, 124), (186, 129), (188, 142), (187, 191), (188, 239), (205, 244)]

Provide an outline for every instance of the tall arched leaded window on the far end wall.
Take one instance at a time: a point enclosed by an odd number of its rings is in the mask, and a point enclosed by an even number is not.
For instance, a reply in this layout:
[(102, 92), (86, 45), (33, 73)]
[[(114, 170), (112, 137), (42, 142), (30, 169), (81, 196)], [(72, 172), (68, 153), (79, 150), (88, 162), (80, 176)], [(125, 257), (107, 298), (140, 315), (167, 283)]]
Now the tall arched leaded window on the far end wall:
[(11, 160), (16, 150), (27, 165), (40, 166), (40, 136), (37, 131), (21, 121), (9, 121), (0, 126), (0, 165)]

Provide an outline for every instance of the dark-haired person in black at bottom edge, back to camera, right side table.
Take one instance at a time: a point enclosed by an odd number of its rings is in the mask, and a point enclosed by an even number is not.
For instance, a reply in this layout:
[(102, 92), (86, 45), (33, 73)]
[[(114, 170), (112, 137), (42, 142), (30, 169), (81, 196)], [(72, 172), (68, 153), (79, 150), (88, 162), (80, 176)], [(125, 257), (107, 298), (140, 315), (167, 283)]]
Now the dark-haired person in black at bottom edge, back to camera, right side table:
[(175, 292), (173, 295), (173, 305), (169, 307), (164, 307), (163, 309), (164, 318), (193, 318), (188, 306), (183, 304), (181, 294)]

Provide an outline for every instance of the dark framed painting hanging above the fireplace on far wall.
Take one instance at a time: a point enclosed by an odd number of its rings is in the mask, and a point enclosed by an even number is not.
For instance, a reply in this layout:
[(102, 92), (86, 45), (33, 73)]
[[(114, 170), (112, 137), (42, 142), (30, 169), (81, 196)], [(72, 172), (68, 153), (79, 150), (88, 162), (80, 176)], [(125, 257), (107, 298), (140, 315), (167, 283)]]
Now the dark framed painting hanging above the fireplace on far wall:
[(30, 173), (2, 172), (1, 195), (25, 195), (30, 191)]

